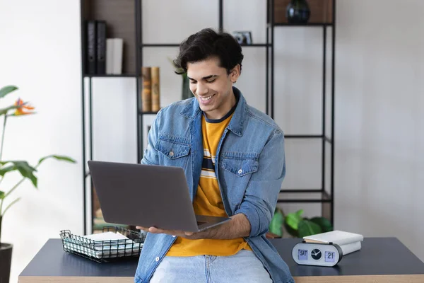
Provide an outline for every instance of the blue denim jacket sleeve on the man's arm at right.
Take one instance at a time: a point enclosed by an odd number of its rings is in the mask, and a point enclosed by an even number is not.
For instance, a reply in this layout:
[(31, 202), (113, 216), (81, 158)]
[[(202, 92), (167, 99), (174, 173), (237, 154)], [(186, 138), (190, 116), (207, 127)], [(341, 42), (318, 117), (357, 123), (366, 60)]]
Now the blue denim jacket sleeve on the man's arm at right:
[(276, 131), (262, 149), (259, 169), (250, 178), (242, 204), (235, 212), (245, 214), (249, 219), (249, 237), (260, 236), (269, 230), (284, 177), (284, 134)]

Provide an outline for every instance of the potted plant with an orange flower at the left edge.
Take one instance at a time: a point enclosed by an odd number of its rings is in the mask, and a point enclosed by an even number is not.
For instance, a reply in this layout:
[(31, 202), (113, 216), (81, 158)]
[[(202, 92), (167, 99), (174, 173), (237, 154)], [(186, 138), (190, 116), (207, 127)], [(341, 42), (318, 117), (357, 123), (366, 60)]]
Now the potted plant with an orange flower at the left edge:
[[(0, 99), (4, 98), (8, 93), (16, 91), (18, 88), (16, 86), (5, 86), (0, 89)], [(34, 114), (34, 108), (28, 105), (27, 102), (23, 102), (23, 100), (16, 100), (14, 105), (8, 106), (6, 108), (0, 109), (0, 117), (4, 119), (3, 122), (3, 131), (1, 134), (1, 144), (0, 144), (0, 183), (6, 177), (8, 173), (15, 171), (16, 173), (20, 173), (21, 179), (13, 185), (9, 190), (4, 190), (4, 187), (0, 187), (0, 282), (8, 283), (10, 277), (10, 268), (11, 268), (11, 258), (12, 258), (12, 244), (11, 243), (3, 243), (1, 241), (1, 221), (3, 220), (4, 215), (8, 212), (8, 209), (12, 207), (13, 204), (16, 204), (20, 200), (20, 198), (16, 198), (10, 202), (8, 201), (10, 195), (19, 187), (24, 180), (30, 180), (33, 183), (34, 187), (37, 188), (37, 176), (34, 175), (37, 172), (37, 168), (40, 164), (48, 158), (54, 158), (60, 161), (67, 161), (71, 163), (75, 163), (72, 158), (67, 156), (59, 156), (59, 155), (49, 155), (40, 158), (38, 163), (35, 166), (31, 166), (27, 161), (16, 161), (16, 160), (3, 160), (3, 144), (4, 144), (4, 133), (6, 129), (6, 122), (11, 117), (23, 117), (30, 114)]]

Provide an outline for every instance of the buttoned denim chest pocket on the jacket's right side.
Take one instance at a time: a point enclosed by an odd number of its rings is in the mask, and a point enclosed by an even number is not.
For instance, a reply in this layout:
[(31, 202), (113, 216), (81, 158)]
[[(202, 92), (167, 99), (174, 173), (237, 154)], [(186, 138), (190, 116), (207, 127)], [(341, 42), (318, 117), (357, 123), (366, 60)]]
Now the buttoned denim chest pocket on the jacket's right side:
[[(259, 154), (258, 154), (259, 155)], [(238, 177), (258, 171), (259, 161), (255, 154), (225, 154), (222, 156), (221, 168)]]

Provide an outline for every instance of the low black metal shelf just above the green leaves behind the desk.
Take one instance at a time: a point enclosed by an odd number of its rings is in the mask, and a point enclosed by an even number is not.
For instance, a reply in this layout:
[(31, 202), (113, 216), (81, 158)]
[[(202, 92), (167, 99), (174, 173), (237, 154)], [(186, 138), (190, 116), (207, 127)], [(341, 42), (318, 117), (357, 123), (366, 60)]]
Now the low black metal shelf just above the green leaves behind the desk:
[(331, 196), (321, 190), (281, 190), (278, 194), (278, 203), (281, 202), (332, 202)]

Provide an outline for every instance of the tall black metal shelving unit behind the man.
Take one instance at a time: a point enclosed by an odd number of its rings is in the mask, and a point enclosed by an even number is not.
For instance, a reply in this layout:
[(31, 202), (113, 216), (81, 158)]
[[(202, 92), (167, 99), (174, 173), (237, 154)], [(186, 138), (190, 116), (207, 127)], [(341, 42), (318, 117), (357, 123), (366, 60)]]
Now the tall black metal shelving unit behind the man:
[[(126, 44), (133, 44), (136, 50), (136, 67), (134, 71), (121, 75), (105, 75), (105, 74), (86, 74), (86, 64), (85, 64), (85, 20), (83, 3), (87, 1), (97, 0), (81, 0), (81, 55), (82, 55), (82, 139), (83, 139), (83, 164), (86, 164), (87, 159), (93, 159), (93, 117), (92, 117), (92, 79), (93, 78), (134, 78), (136, 79), (136, 113), (137, 113), (137, 122), (136, 122), (136, 131), (137, 131), (137, 160), (140, 161), (143, 154), (143, 116), (144, 115), (155, 115), (156, 112), (141, 112), (141, 67), (143, 66), (143, 48), (154, 48), (154, 47), (179, 47), (179, 43), (146, 43), (143, 42), (143, 13), (141, 11), (141, 2), (142, 0), (126, 0), (134, 1), (134, 25), (135, 25), (135, 35), (134, 42), (126, 42)], [(122, 0), (115, 0), (122, 1)], [(218, 15), (218, 29), (223, 30), (223, 0), (218, 0), (219, 5), (219, 15)], [(336, 35), (336, 0), (332, 1), (333, 6), (333, 20), (332, 23), (305, 23), (305, 24), (290, 24), (290, 23), (274, 23), (274, 0), (266, 1), (266, 42), (256, 43), (252, 45), (242, 45), (243, 48), (254, 48), (254, 47), (263, 47), (266, 50), (266, 114), (271, 118), (274, 117), (274, 30), (276, 28), (290, 28), (290, 27), (305, 27), (305, 28), (322, 28), (323, 30), (323, 78), (322, 78), (322, 134), (287, 134), (285, 139), (322, 139), (322, 187), (319, 189), (292, 189), (292, 190), (281, 190), (281, 194), (288, 193), (299, 193), (299, 194), (311, 194), (319, 193), (321, 197), (317, 198), (285, 198), (281, 197), (278, 202), (291, 202), (291, 203), (322, 203), (322, 214), (329, 217), (331, 223), (334, 223), (334, 59), (335, 59), (335, 35)], [(326, 136), (326, 31), (327, 28), (332, 28), (331, 33), (331, 137)], [(85, 79), (88, 79), (88, 140), (89, 140), (89, 157), (87, 158), (86, 154), (86, 82)], [(326, 143), (331, 145), (331, 168), (330, 168), (330, 191), (326, 192), (325, 190), (325, 165), (326, 165)], [(87, 205), (86, 205), (86, 193), (87, 185), (86, 178), (89, 177), (86, 166), (83, 166), (83, 202), (84, 202), (84, 233), (87, 232), (86, 229), (86, 215), (87, 215)], [(92, 186), (90, 186), (90, 191)], [(93, 219), (93, 215), (90, 213), (90, 219)]]

